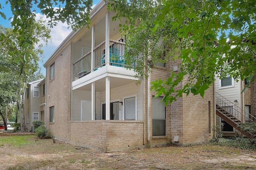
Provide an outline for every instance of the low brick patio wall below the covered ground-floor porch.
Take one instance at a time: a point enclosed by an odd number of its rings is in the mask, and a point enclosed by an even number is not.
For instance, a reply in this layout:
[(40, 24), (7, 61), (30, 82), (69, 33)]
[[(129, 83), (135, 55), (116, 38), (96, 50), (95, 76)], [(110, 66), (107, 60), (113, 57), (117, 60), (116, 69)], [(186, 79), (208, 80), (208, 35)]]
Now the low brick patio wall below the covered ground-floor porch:
[(104, 152), (143, 145), (143, 121), (71, 121), (70, 143)]

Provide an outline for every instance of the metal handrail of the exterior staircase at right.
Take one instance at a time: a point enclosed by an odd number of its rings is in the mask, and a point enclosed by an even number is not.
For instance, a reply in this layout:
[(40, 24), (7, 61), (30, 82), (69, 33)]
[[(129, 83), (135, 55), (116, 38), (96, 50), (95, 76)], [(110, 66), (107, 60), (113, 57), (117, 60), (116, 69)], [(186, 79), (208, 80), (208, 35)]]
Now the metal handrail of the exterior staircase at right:
[[(223, 107), (230, 107), (232, 106), (232, 112), (229, 111), (231, 114), (234, 112), (234, 115), (239, 121), (245, 123), (244, 119), (243, 121), (240, 120), (239, 118), (239, 114), (241, 115), (240, 117), (246, 117), (248, 118), (248, 120), (252, 121), (252, 122), (255, 122), (256, 120), (256, 117), (254, 117), (253, 115), (251, 115), (250, 113), (248, 113), (247, 111), (245, 111), (244, 109), (241, 109), (239, 106), (237, 106), (236, 104), (234, 104), (233, 102), (231, 102), (230, 100), (224, 98), (223, 96), (221, 96), (220, 94), (218, 94), (217, 92), (215, 92), (216, 95), (215, 95), (215, 100), (216, 100), (216, 104), (218, 104), (220, 107), (222, 107), (222, 109), (226, 110), (225, 108)], [(228, 110), (226, 110), (228, 111)], [(242, 111), (242, 112), (241, 112)], [(243, 113), (245, 112), (245, 114)], [(249, 115), (249, 117), (246, 116), (246, 113)], [(252, 119), (250, 118), (252, 117)], [(254, 120), (253, 120), (254, 119)]]

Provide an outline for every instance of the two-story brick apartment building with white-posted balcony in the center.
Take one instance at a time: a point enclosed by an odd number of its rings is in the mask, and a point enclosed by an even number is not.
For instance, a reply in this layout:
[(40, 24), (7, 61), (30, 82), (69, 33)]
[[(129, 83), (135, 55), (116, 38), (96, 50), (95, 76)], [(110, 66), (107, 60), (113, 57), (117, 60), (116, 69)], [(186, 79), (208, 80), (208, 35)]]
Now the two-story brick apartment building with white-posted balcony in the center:
[(101, 0), (91, 12), (90, 29), (70, 33), (44, 63), (47, 129), (56, 139), (103, 151), (208, 142), (213, 86), (204, 98), (184, 94), (165, 107), (150, 82), (168, 78), (178, 61), (155, 66), (136, 85), (122, 57), (125, 37), (112, 16)]

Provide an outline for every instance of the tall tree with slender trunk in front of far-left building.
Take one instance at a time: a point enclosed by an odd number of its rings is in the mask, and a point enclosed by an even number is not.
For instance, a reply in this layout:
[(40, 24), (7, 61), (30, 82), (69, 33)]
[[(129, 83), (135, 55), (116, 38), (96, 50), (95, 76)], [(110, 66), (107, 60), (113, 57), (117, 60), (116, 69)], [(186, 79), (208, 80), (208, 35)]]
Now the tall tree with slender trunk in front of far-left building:
[[(41, 44), (38, 44), (40, 39), (47, 43), (50, 38), (50, 29), (47, 27), (45, 21), (38, 20), (34, 21), (30, 30), (31, 38), (34, 39), (34, 44), (30, 45), (29, 49), (20, 47), (16, 41), (20, 37), (19, 34), (14, 34), (12, 28), (0, 27), (0, 72), (9, 73), (15, 76), (13, 80), (16, 82), (17, 95), (15, 101), (19, 110), (21, 130), (25, 129), (25, 117), (23, 115), (24, 99), (26, 94), (26, 84), (30, 80), (34, 80), (38, 76), (34, 74), (39, 70), (38, 61), (42, 57), (43, 51), (40, 49)], [(36, 45), (38, 46), (36, 48)], [(22, 60), (24, 53), (29, 54), (25, 60)], [(15, 59), (12, 56), (15, 56)], [(18, 64), (17, 64), (18, 63)], [(39, 72), (39, 76), (42, 74)], [(20, 97), (22, 96), (22, 97)]]

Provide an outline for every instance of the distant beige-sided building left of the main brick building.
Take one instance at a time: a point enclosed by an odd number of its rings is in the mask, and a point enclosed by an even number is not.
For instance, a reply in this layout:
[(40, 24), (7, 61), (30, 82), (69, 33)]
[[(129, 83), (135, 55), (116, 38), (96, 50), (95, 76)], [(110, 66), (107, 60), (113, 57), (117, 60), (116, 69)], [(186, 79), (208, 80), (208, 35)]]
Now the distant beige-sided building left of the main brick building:
[[(45, 78), (29, 82), (25, 96), (26, 131), (34, 131), (32, 121), (44, 121)], [(41, 106), (41, 107), (40, 107)]]

